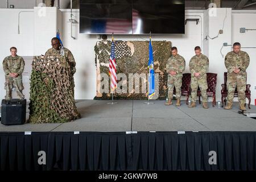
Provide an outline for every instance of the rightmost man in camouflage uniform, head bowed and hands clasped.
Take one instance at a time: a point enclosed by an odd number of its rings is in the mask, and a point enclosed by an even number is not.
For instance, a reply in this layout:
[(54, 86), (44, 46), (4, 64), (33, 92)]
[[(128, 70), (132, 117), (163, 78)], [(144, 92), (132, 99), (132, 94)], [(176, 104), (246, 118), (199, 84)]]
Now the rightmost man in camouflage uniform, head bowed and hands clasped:
[(228, 105), (224, 109), (232, 109), (234, 91), (238, 92), (238, 100), (240, 102), (240, 109), (245, 109), (245, 90), (246, 90), (246, 68), (249, 66), (249, 55), (241, 51), (241, 44), (234, 43), (233, 51), (229, 52), (225, 57), (225, 66), (228, 69)]

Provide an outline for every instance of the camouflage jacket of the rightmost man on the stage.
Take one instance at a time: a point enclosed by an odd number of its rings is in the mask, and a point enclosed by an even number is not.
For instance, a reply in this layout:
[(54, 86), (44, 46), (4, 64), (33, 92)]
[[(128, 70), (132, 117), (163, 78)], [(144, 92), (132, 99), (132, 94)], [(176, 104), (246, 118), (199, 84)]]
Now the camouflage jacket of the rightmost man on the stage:
[(241, 71), (238, 74), (246, 75), (246, 68), (249, 66), (249, 63), (250, 57), (244, 51), (239, 53), (232, 51), (227, 53), (225, 57), (225, 66), (228, 69), (228, 74), (232, 73), (234, 69), (239, 68)]

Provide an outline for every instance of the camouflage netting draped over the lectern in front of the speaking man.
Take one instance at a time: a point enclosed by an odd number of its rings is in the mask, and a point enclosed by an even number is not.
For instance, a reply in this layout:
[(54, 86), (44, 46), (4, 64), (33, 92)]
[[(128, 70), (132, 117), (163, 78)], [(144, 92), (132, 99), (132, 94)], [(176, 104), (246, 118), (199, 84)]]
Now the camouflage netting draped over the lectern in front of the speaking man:
[(80, 118), (71, 67), (64, 57), (35, 56), (30, 78), (31, 123), (60, 123)]

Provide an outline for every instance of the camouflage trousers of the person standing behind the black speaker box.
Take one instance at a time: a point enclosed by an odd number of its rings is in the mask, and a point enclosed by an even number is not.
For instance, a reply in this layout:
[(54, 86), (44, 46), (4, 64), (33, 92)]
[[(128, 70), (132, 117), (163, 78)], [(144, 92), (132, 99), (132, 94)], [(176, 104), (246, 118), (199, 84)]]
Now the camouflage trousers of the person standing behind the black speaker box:
[(17, 96), (19, 99), (24, 99), (24, 95), (22, 94), (22, 90), (24, 89), (23, 83), (22, 83), (22, 76), (18, 76), (16, 78), (6, 76), (5, 77), (5, 90), (6, 90), (6, 100), (11, 100), (12, 96), (12, 90), (13, 87), (16, 90)]

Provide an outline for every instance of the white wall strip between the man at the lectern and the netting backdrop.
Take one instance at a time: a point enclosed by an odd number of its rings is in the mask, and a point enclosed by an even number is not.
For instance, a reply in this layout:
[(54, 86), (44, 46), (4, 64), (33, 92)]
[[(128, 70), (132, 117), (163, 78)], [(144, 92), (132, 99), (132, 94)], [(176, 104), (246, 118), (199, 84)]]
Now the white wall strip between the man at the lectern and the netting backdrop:
[[(73, 24), (71, 38), (70, 10), (63, 10), (63, 34), (61, 40), (64, 47), (73, 53), (76, 60), (75, 98), (93, 99), (96, 96), (96, 65), (94, 46), (97, 42), (96, 35), (79, 34), (79, 23)], [(73, 18), (79, 22), (79, 10), (73, 11)]]

